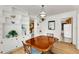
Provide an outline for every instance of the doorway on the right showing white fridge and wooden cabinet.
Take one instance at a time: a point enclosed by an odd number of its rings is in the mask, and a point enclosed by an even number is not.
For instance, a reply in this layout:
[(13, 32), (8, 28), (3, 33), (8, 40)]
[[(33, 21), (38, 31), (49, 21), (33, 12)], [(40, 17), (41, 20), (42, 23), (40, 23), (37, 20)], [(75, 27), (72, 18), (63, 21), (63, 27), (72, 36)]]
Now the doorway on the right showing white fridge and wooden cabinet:
[(73, 22), (72, 17), (64, 18), (63, 21), (61, 21), (61, 38), (63, 42), (72, 43), (73, 38)]

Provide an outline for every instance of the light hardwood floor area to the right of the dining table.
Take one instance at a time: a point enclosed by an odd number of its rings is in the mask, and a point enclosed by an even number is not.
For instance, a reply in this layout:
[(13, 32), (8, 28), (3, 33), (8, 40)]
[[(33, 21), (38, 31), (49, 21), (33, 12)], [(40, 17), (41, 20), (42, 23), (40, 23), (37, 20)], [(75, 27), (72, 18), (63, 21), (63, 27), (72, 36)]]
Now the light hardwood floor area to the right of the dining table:
[(56, 42), (51, 51), (56, 54), (79, 54), (75, 45), (66, 42)]

